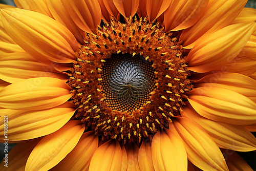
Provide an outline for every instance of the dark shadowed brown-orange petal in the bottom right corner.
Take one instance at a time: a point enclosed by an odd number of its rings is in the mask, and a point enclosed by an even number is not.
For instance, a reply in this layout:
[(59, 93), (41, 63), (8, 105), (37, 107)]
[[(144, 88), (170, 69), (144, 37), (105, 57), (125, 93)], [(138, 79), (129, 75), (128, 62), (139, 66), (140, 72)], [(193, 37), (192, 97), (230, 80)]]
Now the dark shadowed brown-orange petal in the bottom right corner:
[(253, 171), (246, 161), (236, 152), (227, 149), (221, 149), (229, 170), (232, 171)]

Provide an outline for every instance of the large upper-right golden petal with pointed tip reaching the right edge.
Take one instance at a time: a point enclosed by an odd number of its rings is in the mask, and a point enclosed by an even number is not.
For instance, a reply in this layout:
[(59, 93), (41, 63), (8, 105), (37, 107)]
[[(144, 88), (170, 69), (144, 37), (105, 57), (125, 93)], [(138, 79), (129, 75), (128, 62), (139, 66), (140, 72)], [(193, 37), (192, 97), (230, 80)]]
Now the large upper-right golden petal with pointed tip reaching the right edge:
[(189, 70), (209, 72), (231, 61), (245, 46), (254, 26), (254, 23), (230, 25), (201, 38), (187, 56)]

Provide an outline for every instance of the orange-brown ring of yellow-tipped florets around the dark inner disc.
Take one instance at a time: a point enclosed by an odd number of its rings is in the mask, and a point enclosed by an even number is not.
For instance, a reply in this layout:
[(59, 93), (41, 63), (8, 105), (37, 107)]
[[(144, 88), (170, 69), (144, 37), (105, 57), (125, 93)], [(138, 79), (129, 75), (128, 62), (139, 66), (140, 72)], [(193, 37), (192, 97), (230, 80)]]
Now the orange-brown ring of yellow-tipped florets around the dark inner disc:
[[(180, 115), (185, 93), (191, 90), (183, 49), (176, 40), (146, 18), (126, 18), (125, 24), (112, 20), (95, 34), (87, 34), (69, 75), (74, 89), (71, 101), (79, 106), (76, 117), (103, 140), (116, 138), (124, 143), (151, 139), (160, 127), (167, 127), (172, 117)], [(143, 56), (153, 63), (154, 89), (140, 108), (116, 110), (106, 101), (102, 69), (112, 54)]]

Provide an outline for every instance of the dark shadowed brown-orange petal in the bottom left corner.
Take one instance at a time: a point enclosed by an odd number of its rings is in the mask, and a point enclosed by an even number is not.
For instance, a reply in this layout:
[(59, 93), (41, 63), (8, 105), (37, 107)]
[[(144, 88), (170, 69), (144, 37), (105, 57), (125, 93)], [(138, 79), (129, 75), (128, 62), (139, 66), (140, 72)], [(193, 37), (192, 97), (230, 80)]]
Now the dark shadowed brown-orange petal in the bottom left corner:
[[(4, 159), (3, 162), (0, 164), (0, 170), (24, 171), (30, 153), (40, 140), (41, 138), (37, 138), (16, 144), (8, 153), (8, 167), (4, 166), (6, 164), (4, 163)], [(8, 143), (10, 142), (8, 141)]]

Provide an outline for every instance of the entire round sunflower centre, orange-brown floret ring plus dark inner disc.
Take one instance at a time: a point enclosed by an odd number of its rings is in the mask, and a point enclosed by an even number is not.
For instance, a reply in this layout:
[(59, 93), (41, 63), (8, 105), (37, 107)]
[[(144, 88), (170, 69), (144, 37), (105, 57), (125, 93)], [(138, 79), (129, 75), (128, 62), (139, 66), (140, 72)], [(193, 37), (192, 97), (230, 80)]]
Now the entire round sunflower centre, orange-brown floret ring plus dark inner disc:
[(140, 143), (180, 116), (192, 86), (177, 33), (126, 18), (104, 23), (84, 42), (68, 84), (86, 129), (103, 141)]

